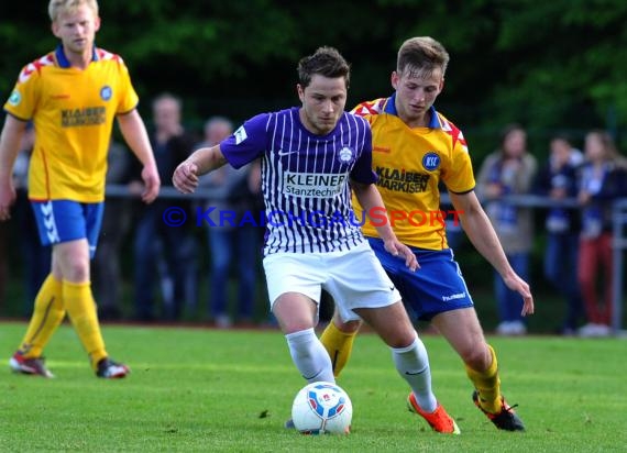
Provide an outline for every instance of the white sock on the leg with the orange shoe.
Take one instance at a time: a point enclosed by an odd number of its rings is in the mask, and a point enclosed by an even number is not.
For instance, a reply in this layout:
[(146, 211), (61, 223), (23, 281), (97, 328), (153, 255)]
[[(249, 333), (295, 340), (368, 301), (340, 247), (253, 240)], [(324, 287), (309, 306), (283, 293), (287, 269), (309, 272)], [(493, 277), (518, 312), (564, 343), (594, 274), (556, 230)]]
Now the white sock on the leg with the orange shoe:
[(438, 407), (436, 395), (431, 391), (431, 368), (425, 344), (416, 334), (416, 340), (406, 347), (391, 347), (392, 357), (398, 374), (411, 387), (418, 406), (425, 412), (432, 412)]

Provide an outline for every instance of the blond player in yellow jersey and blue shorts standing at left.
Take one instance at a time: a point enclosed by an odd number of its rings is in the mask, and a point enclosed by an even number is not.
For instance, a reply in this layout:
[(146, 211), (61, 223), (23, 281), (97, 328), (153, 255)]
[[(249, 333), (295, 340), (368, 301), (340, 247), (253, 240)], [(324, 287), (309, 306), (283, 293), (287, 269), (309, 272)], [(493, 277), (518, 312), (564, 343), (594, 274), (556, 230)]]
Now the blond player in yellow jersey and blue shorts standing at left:
[(97, 1), (52, 0), (48, 12), (61, 44), (20, 73), (4, 104), (8, 114), (0, 136), (0, 221), (6, 221), (15, 199), (11, 173), (20, 139), (28, 122), (34, 124), (29, 198), (42, 243), (53, 250), (52, 272), (10, 366), (52, 377), (42, 352), (67, 313), (96, 375), (124, 377), (129, 368), (109, 358), (105, 349), (89, 276), (114, 119), (143, 164), (144, 202), (157, 197), (161, 183), (129, 71), (118, 55), (94, 44), (100, 27)]

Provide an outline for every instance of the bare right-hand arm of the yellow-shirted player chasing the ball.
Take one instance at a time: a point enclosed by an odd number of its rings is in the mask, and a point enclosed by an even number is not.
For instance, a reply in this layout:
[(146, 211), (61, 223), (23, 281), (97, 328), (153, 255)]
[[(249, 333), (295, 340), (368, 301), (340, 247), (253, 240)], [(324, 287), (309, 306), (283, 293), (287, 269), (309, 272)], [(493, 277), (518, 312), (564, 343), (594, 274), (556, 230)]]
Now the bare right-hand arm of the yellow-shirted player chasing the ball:
[(522, 316), (534, 313), (534, 296), (529, 285), (518, 276), (509, 265), (498, 236), (481, 207), (474, 191), (449, 194), (451, 202), (460, 214), (462, 228), (479, 253), (501, 274), (505, 285), (522, 296)]

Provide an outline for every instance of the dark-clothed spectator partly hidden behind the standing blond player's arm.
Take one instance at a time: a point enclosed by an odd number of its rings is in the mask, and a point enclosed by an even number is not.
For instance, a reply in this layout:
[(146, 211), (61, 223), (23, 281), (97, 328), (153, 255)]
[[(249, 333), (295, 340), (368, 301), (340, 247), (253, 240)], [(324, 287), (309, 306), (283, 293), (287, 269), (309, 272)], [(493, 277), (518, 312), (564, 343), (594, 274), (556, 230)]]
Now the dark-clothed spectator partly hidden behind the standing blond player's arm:
[[(127, 184), (131, 159), (127, 147), (112, 141), (107, 158), (107, 184)], [(94, 287), (98, 294), (100, 320), (122, 318), (120, 248), (131, 226), (131, 200), (109, 197), (102, 216), (98, 254), (94, 257)]]

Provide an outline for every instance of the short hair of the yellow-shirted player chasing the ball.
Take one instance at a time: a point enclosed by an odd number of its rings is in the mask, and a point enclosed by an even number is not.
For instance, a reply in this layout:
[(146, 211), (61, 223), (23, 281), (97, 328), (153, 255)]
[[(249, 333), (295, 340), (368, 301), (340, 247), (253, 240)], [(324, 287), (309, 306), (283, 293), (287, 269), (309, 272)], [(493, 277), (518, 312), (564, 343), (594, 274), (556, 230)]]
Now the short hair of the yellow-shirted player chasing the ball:
[(444, 46), (432, 37), (410, 37), (398, 49), (396, 71), (403, 74), (406, 69), (409, 69), (410, 71), (428, 75), (440, 68), (442, 77), (444, 77), (449, 59), (449, 53)]

